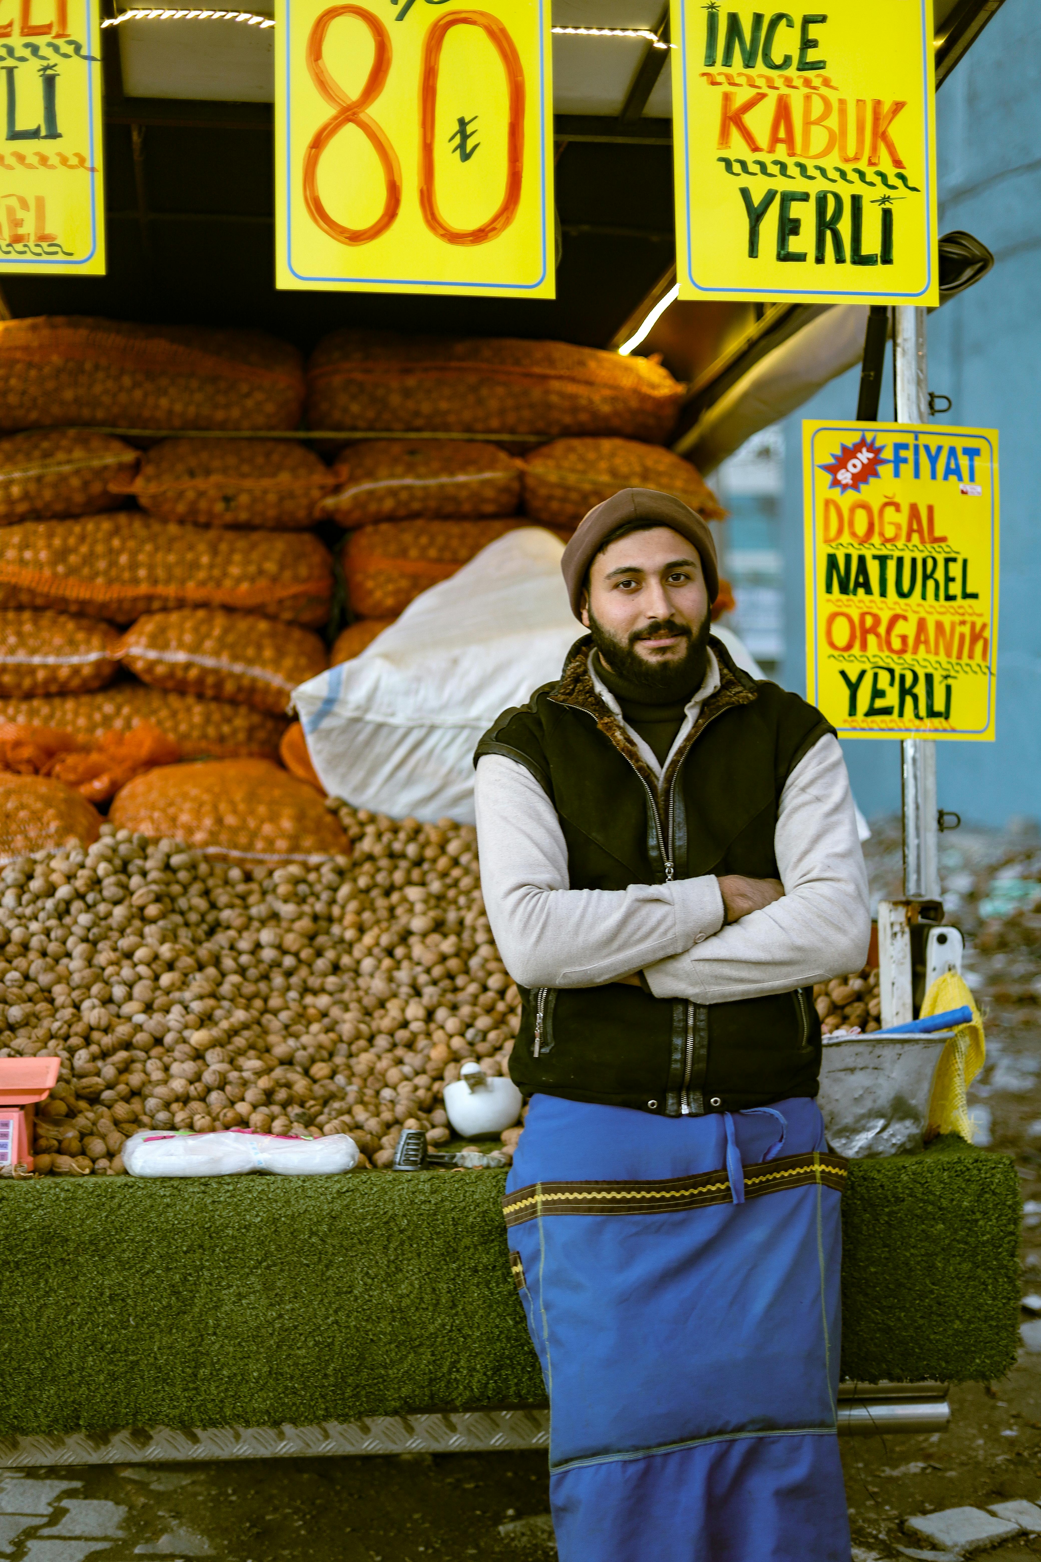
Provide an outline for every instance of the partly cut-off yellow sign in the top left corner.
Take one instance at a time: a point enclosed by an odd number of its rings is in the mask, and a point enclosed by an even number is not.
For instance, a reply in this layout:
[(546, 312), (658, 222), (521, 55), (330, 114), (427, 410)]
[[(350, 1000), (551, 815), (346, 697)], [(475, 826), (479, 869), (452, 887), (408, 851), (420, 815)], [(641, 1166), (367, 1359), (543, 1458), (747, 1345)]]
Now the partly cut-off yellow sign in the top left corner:
[(97, 0), (19, 0), (0, 22), (0, 275), (105, 272)]

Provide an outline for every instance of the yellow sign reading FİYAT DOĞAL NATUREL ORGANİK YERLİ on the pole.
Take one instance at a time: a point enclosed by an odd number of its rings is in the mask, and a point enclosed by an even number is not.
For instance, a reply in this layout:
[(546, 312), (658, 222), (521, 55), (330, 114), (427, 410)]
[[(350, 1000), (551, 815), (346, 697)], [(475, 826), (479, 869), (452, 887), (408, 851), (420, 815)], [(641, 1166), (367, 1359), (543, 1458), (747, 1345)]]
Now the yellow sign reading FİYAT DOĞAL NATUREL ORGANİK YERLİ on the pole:
[(994, 737), (997, 430), (802, 425), (807, 698), (840, 737)]

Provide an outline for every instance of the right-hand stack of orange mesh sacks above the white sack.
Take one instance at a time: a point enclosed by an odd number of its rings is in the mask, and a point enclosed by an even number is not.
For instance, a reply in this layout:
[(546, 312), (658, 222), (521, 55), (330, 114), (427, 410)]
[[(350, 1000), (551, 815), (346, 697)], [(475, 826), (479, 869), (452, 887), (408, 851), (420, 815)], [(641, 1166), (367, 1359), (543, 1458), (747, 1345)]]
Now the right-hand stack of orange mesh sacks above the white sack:
[[(682, 394), (651, 359), (565, 342), (328, 336), (307, 367), (311, 426), (423, 436), (362, 437), (332, 467), (336, 486), (315, 515), (348, 531), (356, 622), (331, 662), (357, 656), (420, 592), (512, 526), (534, 522), (567, 539), (621, 487), (663, 489), (721, 520), (698, 472), (662, 447)], [(487, 439), (435, 437), (449, 433)]]

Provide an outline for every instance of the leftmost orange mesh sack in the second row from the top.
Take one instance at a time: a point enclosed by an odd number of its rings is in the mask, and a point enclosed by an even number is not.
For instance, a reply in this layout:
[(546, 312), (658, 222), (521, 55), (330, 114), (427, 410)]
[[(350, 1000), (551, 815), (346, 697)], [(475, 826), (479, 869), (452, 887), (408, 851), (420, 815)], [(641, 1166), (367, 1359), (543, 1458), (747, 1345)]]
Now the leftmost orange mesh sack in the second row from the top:
[(122, 439), (48, 428), (0, 439), (0, 526), (114, 509), (140, 456)]

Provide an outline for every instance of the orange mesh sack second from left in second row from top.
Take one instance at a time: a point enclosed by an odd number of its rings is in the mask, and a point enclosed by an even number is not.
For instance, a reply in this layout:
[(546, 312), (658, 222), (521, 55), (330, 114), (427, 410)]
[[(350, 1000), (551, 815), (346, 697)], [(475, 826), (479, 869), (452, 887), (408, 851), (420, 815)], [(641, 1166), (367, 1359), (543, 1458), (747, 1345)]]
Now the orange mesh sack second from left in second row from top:
[(326, 464), (289, 439), (165, 439), (123, 492), (161, 520), (292, 531), (311, 525), (332, 484)]

